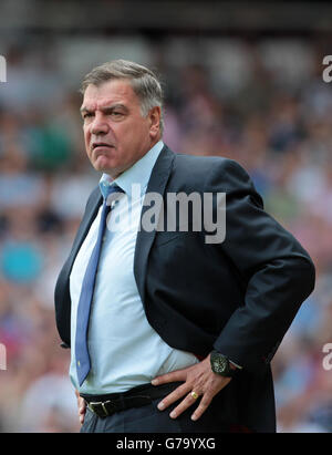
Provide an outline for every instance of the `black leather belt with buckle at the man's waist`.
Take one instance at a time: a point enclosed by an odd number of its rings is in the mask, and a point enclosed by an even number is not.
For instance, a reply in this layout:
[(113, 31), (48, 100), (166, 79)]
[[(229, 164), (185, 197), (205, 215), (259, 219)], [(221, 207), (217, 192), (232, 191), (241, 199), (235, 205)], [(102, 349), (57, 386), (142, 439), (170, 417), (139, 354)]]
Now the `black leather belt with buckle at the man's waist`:
[(172, 382), (162, 385), (143, 384), (123, 393), (110, 393), (106, 395), (80, 395), (87, 403), (87, 407), (98, 417), (105, 418), (116, 412), (131, 407), (141, 407), (149, 404), (153, 400), (166, 396), (181, 382)]

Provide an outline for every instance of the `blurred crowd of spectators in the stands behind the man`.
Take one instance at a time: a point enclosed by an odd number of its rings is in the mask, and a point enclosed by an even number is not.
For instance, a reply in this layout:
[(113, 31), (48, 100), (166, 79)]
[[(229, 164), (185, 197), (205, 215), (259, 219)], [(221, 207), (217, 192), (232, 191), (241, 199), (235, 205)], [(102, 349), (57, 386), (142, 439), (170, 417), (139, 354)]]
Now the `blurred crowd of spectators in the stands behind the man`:
[(332, 432), (332, 371), (323, 363), (332, 343), (332, 84), (314, 43), (74, 35), (25, 38), (1, 52), (0, 431), (80, 426), (53, 290), (100, 178), (84, 152), (80, 81), (95, 64), (124, 58), (162, 76), (164, 142), (177, 153), (238, 161), (266, 209), (310, 252), (315, 291), (272, 361), (278, 431)]

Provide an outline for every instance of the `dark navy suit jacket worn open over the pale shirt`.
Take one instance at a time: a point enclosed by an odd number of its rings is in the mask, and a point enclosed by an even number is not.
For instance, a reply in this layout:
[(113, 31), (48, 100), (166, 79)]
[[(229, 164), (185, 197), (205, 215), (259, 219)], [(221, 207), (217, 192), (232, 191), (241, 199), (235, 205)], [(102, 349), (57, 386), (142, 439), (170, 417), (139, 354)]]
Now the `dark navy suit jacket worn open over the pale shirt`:
[[(276, 430), (270, 361), (314, 286), (304, 249), (263, 210), (236, 162), (162, 151), (147, 193), (226, 193), (226, 238), (205, 231), (138, 231), (134, 273), (147, 320), (170, 345), (206, 356), (214, 348), (243, 366), (215, 399), (220, 422), (258, 432)], [(56, 324), (70, 345), (69, 277), (102, 203), (91, 194), (72, 251), (55, 288)], [(148, 206), (143, 207), (142, 216)], [(112, 321), (110, 321), (112, 324)], [(137, 360), (138, 361), (138, 360)]]

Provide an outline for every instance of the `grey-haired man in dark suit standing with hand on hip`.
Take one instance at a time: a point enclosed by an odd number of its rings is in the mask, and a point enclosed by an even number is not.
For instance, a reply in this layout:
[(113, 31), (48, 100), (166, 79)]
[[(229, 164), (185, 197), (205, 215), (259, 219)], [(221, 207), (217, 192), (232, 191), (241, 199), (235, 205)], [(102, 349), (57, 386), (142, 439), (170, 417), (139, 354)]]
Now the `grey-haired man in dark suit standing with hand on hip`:
[(239, 164), (164, 145), (148, 69), (105, 63), (82, 92), (103, 176), (55, 289), (82, 431), (276, 431), (270, 361), (313, 289), (309, 255)]

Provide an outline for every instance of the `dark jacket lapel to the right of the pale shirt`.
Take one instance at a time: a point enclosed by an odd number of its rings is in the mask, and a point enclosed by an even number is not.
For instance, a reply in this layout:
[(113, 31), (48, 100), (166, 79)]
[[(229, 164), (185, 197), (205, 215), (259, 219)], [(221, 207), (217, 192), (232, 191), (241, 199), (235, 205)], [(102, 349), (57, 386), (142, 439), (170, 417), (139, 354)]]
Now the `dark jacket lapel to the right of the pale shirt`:
[[(146, 188), (146, 194), (147, 193), (158, 193), (159, 195), (164, 196), (174, 158), (175, 158), (175, 154), (167, 146), (164, 146), (153, 168), (153, 172), (152, 172), (152, 175), (151, 175), (147, 188)], [(148, 208), (149, 206), (144, 205), (143, 203), (142, 214), (141, 214), (141, 226), (142, 226), (142, 217), (144, 216), (145, 211)], [(145, 297), (145, 278), (146, 278), (146, 267), (147, 267), (148, 254), (153, 245), (153, 241), (155, 239), (155, 236), (156, 236), (156, 230), (153, 230), (152, 232), (147, 232), (142, 227), (141, 227), (141, 230), (138, 230), (137, 232), (135, 257), (134, 257), (134, 276), (135, 276), (136, 285), (137, 285), (138, 292), (143, 301), (143, 304), (144, 304), (144, 297)]]

